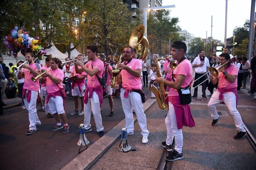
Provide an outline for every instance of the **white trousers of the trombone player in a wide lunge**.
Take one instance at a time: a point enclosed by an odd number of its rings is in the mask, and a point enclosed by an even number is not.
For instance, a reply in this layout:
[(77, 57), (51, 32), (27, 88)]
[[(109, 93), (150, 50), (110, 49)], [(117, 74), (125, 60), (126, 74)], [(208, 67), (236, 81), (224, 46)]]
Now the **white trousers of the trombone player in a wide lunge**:
[(219, 115), (216, 110), (216, 105), (220, 104), (221, 102), (224, 102), (226, 106), (228, 107), (229, 113), (233, 116), (236, 129), (239, 131), (245, 132), (244, 129), (244, 123), (242, 121), (242, 118), (239, 114), (239, 112), (236, 109), (236, 95), (232, 92), (223, 93), (223, 100), (219, 100), (219, 94), (220, 92), (215, 91), (208, 103), (208, 107), (211, 113), (211, 117), (213, 119), (218, 119)]

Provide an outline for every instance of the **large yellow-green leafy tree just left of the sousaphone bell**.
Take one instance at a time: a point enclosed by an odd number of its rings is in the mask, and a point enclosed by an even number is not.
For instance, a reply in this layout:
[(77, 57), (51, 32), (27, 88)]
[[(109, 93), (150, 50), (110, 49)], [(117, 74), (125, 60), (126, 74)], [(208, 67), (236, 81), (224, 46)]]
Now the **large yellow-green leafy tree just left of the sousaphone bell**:
[(92, 23), (92, 32), (97, 44), (104, 49), (107, 60), (111, 47), (123, 47), (128, 45), (129, 35), (133, 27), (132, 12), (127, 4), (120, 0), (96, 0), (91, 4), (97, 4), (88, 11), (88, 18)]

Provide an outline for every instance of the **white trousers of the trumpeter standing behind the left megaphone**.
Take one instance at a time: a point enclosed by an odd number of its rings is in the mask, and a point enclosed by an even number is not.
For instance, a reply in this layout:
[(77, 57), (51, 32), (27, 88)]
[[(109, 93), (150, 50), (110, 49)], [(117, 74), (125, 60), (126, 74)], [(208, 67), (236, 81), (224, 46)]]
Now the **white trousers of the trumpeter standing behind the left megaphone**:
[[(88, 93), (88, 92), (86, 92)], [(89, 96), (89, 95), (88, 95)], [(84, 126), (85, 129), (91, 128), (91, 111), (94, 117), (97, 131), (103, 131), (102, 118), (100, 115), (100, 100), (96, 92), (92, 92), (92, 98), (88, 97), (88, 102), (84, 103)]]

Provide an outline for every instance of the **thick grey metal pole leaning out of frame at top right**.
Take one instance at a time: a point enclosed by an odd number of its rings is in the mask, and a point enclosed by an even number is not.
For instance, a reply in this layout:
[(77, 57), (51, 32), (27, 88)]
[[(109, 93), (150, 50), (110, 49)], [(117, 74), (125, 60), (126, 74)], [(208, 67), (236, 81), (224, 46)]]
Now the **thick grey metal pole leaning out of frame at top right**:
[(252, 39), (253, 39), (253, 24), (254, 24), (254, 12), (255, 12), (255, 0), (252, 0), (251, 4), (251, 17), (250, 17), (250, 29), (249, 29), (249, 43), (248, 43), (248, 51), (247, 57), (248, 60), (252, 60)]

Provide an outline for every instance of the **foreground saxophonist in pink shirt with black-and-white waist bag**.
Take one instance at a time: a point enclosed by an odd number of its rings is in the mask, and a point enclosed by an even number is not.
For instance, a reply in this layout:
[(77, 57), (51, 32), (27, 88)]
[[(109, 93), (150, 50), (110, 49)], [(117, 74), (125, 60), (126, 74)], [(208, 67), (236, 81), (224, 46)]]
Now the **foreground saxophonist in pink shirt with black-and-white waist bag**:
[(188, 104), (191, 102), (189, 86), (192, 81), (193, 70), (189, 60), (185, 57), (186, 51), (187, 46), (184, 42), (173, 42), (171, 55), (173, 60), (177, 60), (179, 64), (172, 72), (172, 81), (165, 80), (161, 77), (156, 77), (156, 80), (154, 81), (154, 83), (164, 83), (171, 87), (170, 94), (166, 98), (169, 101), (169, 112), (165, 118), (167, 138), (162, 142), (162, 146), (165, 147), (167, 151), (172, 151), (172, 137), (173, 135), (175, 136), (175, 151), (165, 157), (165, 159), (169, 161), (183, 158), (182, 127), (195, 126)]

